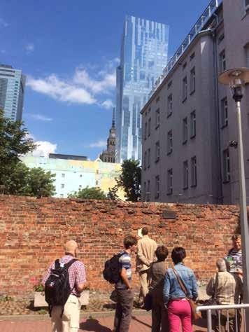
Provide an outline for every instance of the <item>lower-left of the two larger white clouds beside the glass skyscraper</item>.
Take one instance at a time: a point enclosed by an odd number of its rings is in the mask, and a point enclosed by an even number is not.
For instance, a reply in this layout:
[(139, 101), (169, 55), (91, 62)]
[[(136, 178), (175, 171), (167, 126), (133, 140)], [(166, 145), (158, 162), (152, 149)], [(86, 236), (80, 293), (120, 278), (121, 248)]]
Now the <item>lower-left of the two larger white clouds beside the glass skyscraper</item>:
[(41, 92), (43, 95), (48, 95), (61, 102), (75, 104), (94, 104), (97, 102), (87, 90), (67, 83), (54, 74), (38, 79), (28, 76), (27, 85), (32, 90)]

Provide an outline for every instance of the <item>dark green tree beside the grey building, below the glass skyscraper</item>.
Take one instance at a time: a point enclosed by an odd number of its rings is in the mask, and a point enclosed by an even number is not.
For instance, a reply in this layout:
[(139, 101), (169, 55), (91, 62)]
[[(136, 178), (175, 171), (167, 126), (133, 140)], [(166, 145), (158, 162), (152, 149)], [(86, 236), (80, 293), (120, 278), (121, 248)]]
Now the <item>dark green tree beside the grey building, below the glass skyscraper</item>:
[(118, 187), (124, 189), (125, 197), (132, 202), (136, 202), (141, 196), (141, 167), (139, 164), (139, 160), (124, 160), (122, 172), (117, 179)]

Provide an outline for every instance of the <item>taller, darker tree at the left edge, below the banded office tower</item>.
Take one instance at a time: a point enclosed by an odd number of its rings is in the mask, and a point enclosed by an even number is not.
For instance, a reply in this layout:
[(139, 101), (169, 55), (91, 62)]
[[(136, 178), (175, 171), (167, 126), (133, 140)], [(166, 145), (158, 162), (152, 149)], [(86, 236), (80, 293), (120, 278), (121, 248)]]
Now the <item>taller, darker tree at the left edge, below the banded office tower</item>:
[(2, 110), (0, 110), (0, 142), (0, 185), (5, 185), (6, 179), (20, 161), (20, 155), (33, 151), (36, 144), (33, 139), (28, 138), (23, 123), (5, 118)]

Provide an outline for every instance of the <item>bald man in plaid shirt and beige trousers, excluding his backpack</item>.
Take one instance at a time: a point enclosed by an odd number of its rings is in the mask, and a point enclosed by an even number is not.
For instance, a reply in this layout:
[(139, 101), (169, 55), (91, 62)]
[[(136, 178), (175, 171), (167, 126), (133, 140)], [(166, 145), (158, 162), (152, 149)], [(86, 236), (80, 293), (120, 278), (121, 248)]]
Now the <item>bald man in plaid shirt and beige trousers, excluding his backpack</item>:
[[(78, 244), (70, 240), (65, 244), (65, 256), (59, 262), (66, 264), (78, 254)], [(55, 262), (50, 265), (43, 277), (43, 286), (50, 276), (51, 270), (55, 268)], [(77, 332), (80, 325), (80, 293), (88, 286), (85, 275), (85, 266), (82, 262), (76, 261), (69, 267), (69, 284), (72, 289), (69, 299), (64, 306), (64, 313), (61, 317), (62, 307), (57, 305), (52, 308), (52, 332)]]

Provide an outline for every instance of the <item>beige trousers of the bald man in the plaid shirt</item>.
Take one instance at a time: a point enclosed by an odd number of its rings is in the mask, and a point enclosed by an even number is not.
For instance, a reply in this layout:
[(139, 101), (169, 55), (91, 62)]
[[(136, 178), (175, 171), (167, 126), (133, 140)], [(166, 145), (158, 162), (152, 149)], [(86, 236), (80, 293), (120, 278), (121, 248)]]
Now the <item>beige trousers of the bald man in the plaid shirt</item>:
[(80, 328), (80, 307), (80, 300), (74, 295), (70, 295), (66, 301), (63, 314), (62, 306), (53, 307), (51, 314), (52, 332), (78, 332), (78, 328)]

